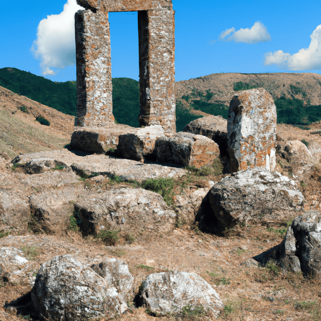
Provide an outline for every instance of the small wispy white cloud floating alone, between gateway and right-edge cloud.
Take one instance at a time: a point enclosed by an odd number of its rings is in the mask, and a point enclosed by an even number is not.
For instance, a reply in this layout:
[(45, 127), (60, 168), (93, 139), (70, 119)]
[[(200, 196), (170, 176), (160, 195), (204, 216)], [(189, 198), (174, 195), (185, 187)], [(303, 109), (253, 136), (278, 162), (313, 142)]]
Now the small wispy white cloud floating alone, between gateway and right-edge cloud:
[[(230, 33), (231, 36), (224, 39)], [(251, 29), (239, 29), (235, 31), (235, 28), (226, 29), (220, 34), (220, 40), (223, 41), (235, 41), (235, 42), (244, 42), (244, 43), (257, 43), (257, 42), (266, 42), (271, 40), (271, 36), (267, 31), (265, 25), (257, 21), (254, 23)]]

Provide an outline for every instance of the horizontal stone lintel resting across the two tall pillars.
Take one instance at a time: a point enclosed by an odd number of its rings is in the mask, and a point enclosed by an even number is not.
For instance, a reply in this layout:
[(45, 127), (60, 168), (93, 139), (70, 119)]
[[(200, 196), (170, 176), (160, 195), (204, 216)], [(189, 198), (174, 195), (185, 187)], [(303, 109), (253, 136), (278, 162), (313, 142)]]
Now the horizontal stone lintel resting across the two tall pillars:
[(156, 8), (173, 10), (171, 0), (77, 0), (86, 9), (104, 12), (141, 11)]

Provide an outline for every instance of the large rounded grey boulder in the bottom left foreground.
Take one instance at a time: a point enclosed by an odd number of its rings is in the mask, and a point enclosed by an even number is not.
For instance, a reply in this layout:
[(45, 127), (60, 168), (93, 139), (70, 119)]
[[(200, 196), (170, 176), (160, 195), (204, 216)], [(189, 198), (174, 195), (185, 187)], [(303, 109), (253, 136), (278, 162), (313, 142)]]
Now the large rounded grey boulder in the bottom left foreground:
[(113, 317), (126, 309), (110, 280), (69, 255), (55, 256), (41, 265), (31, 300), (40, 319)]

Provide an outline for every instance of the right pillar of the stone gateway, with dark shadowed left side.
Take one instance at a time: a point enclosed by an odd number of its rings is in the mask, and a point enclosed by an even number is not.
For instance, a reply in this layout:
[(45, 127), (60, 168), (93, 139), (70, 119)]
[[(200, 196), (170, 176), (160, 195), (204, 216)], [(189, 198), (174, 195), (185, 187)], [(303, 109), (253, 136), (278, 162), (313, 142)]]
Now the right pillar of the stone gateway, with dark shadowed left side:
[(176, 133), (174, 11), (158, 8), (138, 11), (141, 126), (161, 125)]

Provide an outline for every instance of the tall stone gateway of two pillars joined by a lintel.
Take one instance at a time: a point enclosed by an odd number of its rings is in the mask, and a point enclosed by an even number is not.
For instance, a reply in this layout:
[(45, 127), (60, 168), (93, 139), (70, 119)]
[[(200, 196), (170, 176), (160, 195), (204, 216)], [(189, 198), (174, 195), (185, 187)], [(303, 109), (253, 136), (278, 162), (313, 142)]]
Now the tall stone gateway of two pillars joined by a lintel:
[(77, 0), (75, 126), (115, 127), (108, 12), (137, 11), (141, 126), (175, 134), (174, 11), (171, 0)]

